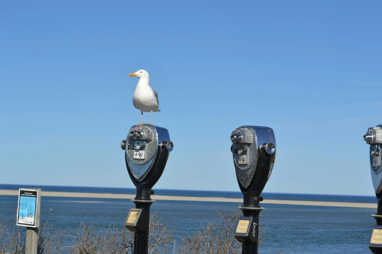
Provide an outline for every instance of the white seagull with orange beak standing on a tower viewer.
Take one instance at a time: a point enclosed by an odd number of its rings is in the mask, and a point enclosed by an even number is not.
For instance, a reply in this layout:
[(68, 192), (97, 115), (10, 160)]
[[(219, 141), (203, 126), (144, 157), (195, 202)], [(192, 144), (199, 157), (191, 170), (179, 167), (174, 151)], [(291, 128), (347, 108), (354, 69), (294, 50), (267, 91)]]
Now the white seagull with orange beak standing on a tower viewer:
[(150, 125), (153, 125), (153, 112), (159, 112), (161, 110), (159, 109), (158, 93), (149, 85), (150, 76), (145, 70), (139, 70), (136, 73), (130, 73), (129, 76), (139, 78), (137, 88), (135, 89), (133, 95), (133, 105), (136, 109), (141, 110), (142, 115), (142, 123), (138, 125), (144, 125), (143, 112), (150, 112)]

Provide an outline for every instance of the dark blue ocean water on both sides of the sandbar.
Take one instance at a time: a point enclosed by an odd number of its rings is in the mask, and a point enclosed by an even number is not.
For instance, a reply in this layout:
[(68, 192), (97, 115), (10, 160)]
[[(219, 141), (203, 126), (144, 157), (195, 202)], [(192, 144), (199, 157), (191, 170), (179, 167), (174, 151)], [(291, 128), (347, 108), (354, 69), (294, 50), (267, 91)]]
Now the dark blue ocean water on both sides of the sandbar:
[[(0, 184), (0, 189), (18, 190), (20, 187), (41, 188), (43, 191), (91, 192), (135, 194), (135, 189), (33, 186)], [(198, 197), (242, 197), (241, 192), (181, 191), (155, 189), (157, 195)], [(263, 193), (265, 199), (313, 200), (375, 203), (375, 197), (303, 195)], [(155, 200), (155, 195), (152, 196)], [(16, 216), (17, 196), (0, 196), (0, 218)], [(97, 202), (84, 202), (97, 201)], [(375, 220), (370, 215), (376, 209), (324, 207), (305, 205), (263, 204), (261, 227), (267, 236), (259, 247), (259, 253), (271, 254), (279, 250), (285, 253), (315, 254), (367, 254), (371, 228)], [(41, 217), (48, 218), (54, 226), (76, 230), (80, 222), (94, 223), (96, 227), (123, 225), (134, 203), (121, 199), (88, 199), (41, 197)], [(183, 236), (192, 235), (202, 223), (213, 222), (217, 210), (227, 207), (237, 209), (236, 203), (167, 201), (158, 200), (151, 206), (151, 213), (158, 212), (163, 221), (177, 229)], [(178, 236), (180, 237), (180, 235)]]

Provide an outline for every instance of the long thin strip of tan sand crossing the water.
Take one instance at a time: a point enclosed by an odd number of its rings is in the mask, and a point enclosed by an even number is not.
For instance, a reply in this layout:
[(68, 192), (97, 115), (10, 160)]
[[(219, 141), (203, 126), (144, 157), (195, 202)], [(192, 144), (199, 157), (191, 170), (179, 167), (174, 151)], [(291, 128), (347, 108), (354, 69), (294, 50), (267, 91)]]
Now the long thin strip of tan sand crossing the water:
[[(0, 195), (18, 196), (18, 190), (0, 190)], [(98, 199), (134, 199), (135, 195), (108, 194), (108, 193), (80, 193), (80, 192), (53, 192), (41, 191), (43, 197), (68, 197), (68, 198), (98, 198)], [(207, 201), (207, 202), (234, 202), (242, 203), (242, 199), (208, 198), (208, 197), (179, 197), (179, 196), (151, 196), (153, 200), (177, 200), (177, 201)], [(299, 201), (299, 200), (264, 200), (261, 204), (290, 204), (290, 205), (315, 205), (337, 207), (377, 208), (377, 203), (351, 203), (351, 202), (322, 202), (322, 201)]]

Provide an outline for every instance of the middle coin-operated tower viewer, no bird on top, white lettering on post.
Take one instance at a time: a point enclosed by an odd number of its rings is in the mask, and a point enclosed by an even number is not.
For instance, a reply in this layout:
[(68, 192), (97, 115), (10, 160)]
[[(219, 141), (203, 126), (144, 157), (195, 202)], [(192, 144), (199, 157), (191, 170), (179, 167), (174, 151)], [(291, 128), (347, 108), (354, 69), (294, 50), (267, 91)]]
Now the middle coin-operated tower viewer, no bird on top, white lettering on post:
[(239, 218), (235, 237), (242, 242), (243, 254), (257, 254), (259, 247), (260, 194), (268, 181), (276, 157), (273, 129), (242, 126), (231, 134), (231, 152), (241, 193), (243, 216)]

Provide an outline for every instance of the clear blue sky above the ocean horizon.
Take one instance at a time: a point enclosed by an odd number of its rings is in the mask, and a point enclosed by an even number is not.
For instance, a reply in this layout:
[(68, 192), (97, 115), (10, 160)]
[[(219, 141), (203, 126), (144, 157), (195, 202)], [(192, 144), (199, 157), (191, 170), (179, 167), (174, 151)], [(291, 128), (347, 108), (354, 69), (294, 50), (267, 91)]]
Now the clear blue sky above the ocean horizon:
[[(231, 131), (272, 127), (264, 192), (374, 195), (382, 2), (2, 1), (0, 183), (134, 187), (120, 142), (141, 121), (174, 150), (155, 188), (239, 191)], [(149, 121), (146, 113), (145, 121)]]

